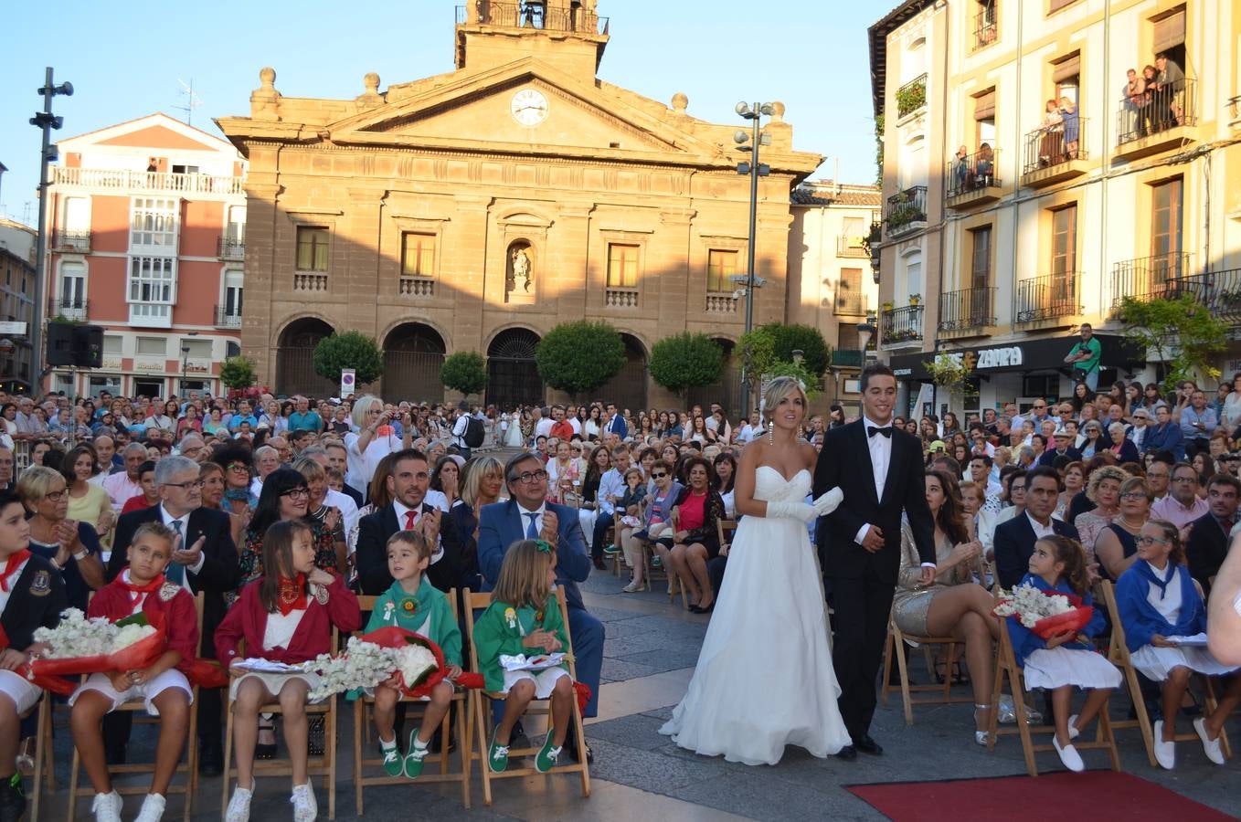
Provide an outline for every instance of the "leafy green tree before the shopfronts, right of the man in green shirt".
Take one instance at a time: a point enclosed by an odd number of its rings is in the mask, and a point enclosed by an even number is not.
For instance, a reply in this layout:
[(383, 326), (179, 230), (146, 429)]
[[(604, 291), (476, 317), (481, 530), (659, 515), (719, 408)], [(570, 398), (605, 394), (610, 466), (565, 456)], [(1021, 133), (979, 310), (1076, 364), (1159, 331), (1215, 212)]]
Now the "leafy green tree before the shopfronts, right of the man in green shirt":
[(1211, 310), (1191, 295), (1149, 301), (1126, 296), (1121, 321), (1126, 337), (1144, 351), (1154, 351), (1157, 362), (1168, 363), (1165, 391), (1199, 374), (1209, 379), (1220, 376), (1211, 358), (1227, 347), (1227, 322), (1211, 316)]

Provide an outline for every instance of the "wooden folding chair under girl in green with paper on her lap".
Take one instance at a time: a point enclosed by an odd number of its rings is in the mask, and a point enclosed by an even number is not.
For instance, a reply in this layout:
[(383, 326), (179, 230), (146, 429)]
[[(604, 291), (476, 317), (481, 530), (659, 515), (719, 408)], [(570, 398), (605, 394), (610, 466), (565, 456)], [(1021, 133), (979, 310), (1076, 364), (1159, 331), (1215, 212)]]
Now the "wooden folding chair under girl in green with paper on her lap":
[[(568, 627), (568, 608), (565, 605), (565, 598), (557, 595), (556, 600), (560, 603), (560, 616), (565, 622), (565, 639), (567, 640), (567, 648), (573, 647), (573, 636)], [(473, 615), (486, 609), (491, 604), (490, 594), (472, 594), (465, 591), (465, 603), (470, 612), (470, 619), (465, 620), (465, 627), (469, 631), (469, 656), (470, 667), (474, 671), (482, 673), (482, 668), (478, 665), (478, 643), (474, 641), (474, 619)], [(566, 648), (566, 650), (567, 650)], [(573, 663), (572, 656), (568, 658), (568, 676), (577, 682), (577, 667)], [(509, 779), (514, 776), (542, 776), (534, 765), (529, 767), (511, 767), (513, 759), (517, 756), (535, 756), (539, 754), (540, 748), (510, 748), (509, 749), (509, 764), (510, 767), (501, 774), (493, 774), (490, 762), (488, 761), (488, 749), (491, 741), (491, 729), (494, 725), (494, 717), (491, 715), (491, 700), (504, 699), (504, 694), (493, 693), (486, 691), (480, 691), (474, 694), (474, 738), (478, 748), (470, 756), (477, 759), (479, 762), (479, 772), (483, 775), (483, 800), (491, 805), (491, 780), (496, 779)], [(544, 714), (551, 719), (551, 702), (549, 699), (534, 699), (530, 707), (526, 708), (526, 713), (522, 715), (537, 715)], [(577, 705), (577, 699), (575, 696), (571, 718), (573, 723), (573, 730), (577, 734), (577, 761), (570, 765), (553, 765), (549, 774), (580, 774), (582, 780), (582, 796), (591, 796), (591, 769), (586, 762), (586, 733), (582, 730), (582, 712)]]

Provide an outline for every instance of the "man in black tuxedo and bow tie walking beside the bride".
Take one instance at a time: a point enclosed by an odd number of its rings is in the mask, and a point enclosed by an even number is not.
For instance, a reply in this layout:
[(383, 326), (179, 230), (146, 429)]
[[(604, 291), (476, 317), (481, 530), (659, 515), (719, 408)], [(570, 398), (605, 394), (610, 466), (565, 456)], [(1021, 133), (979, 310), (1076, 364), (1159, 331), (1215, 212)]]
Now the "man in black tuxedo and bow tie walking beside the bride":
[(840, 714), (858, 751), (882, 754), (870, 738), (875, 677), (887, 640), (887, 620), (901, 564), (901, 512), (910, 519), (922, 559), (922, 580), (934, 579), (934, 524), (926, 501), (922, 448), (892, 426), (896, 376), (884, 365), (861, 372), (862, 418), (833, 428), (814, 470), (814, 497), (840, 486), (844, 505), (815, 529), (823, 575), (831, 591), (835, 641), (831, 661), (840, 682)]

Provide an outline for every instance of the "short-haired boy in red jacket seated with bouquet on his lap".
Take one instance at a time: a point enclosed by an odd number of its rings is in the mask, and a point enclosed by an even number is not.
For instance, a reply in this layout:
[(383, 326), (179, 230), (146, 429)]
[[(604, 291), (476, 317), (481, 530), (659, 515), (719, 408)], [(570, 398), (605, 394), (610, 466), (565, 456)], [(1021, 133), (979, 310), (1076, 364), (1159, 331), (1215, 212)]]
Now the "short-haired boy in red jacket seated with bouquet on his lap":
[(99, 589), (87, 611), (87, 616), (103, 616), (109, 622), (145, 614), (151, 625), (163, 625), (166, 635), (164, 655), (150, 667), (92, 673), (69, 697), (73, 744), (94, 786), (92, 810), (101, 822), (119, 822), (122, 806), (103, 751), (104, 714), (130, 699), (144, 699), (146, 713), (160, 718), (155, 772), (138, 816), (141, 822), (156, 822), (163, 816), (168, 786), (185, 746), (194, 691), (177, 667), (189, 666), (196, 656), (199, 620), (190, 591), (164, 578), (172, 542), (172, 531), (160, 522), (139, 526), (129, 543), (129, 565)]

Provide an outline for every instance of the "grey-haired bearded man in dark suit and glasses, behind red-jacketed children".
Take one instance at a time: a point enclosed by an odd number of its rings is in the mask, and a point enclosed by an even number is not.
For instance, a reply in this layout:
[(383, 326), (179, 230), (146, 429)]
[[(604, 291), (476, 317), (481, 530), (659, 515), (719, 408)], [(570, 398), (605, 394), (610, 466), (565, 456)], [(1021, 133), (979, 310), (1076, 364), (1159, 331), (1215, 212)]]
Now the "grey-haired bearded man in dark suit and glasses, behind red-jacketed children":
[[(129, 560), (127, 553), (134, 532), (144, 522), (161, 522), (180, 536), (172, 562), (165, 577), (191, 594), (202, 594), (202, 642), (199, 655), (216, 658), (216, 626), (225, 619), (225, 593), (237, 588), (241, 567), (237, 546), (232, 541), (228, 515), (202, 507), (202, 481), (199, 464), (186, 456), (165, 456), (155, 464), (155, 485), (160, 503), (141, 511), (122, 515), (112, 543), (107, 575), (112, 581)], [(206, 776), (218, 776), (223, 766), (221, 688), (199, 689), (199, 770)], [(133, 714), (119, 712), (104, 719), (109, 758), (124, 761)]]

